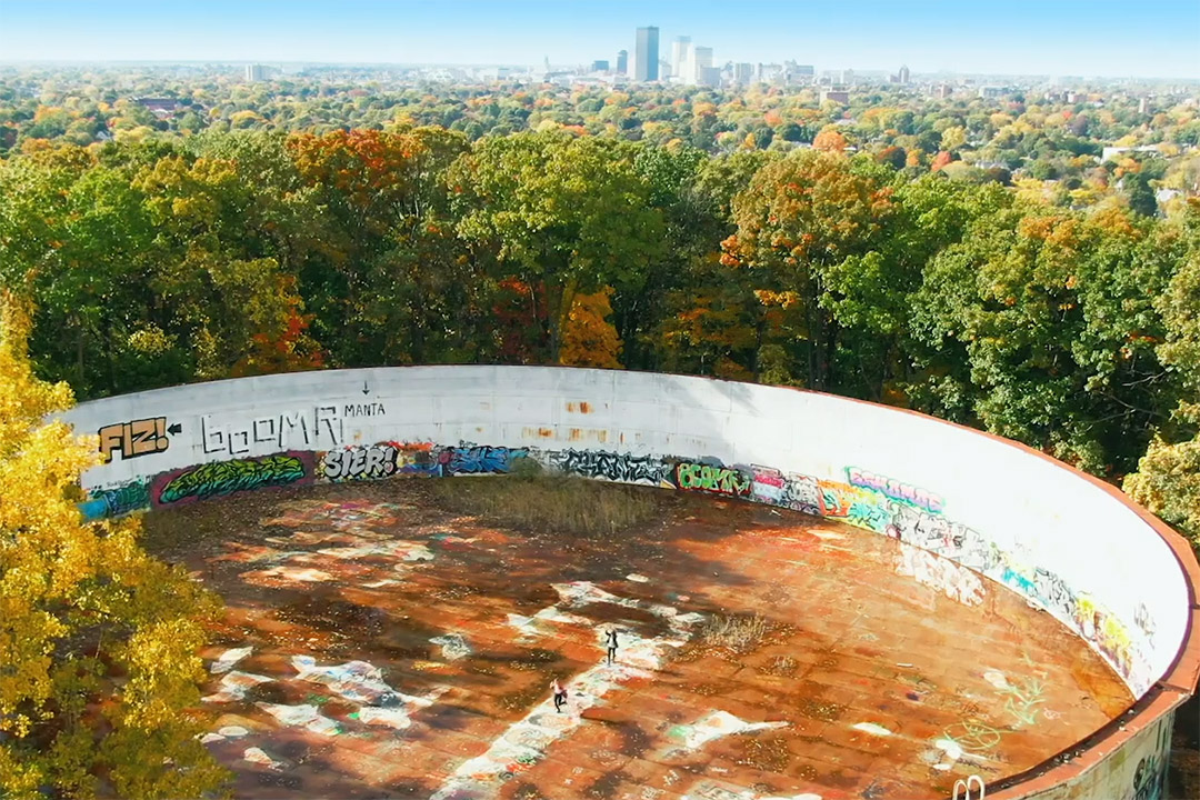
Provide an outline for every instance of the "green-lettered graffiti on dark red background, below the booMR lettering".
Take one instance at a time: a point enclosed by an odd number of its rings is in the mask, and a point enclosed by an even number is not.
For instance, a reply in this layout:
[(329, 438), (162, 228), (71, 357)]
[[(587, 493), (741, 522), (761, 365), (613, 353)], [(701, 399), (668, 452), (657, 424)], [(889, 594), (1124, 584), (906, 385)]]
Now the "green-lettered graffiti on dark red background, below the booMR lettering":
[(287, 486), (311, 477), (312, 453), (289, 452), (260, 458), (235, 458), (188, 467), (155, 479), (151, 495), (160, 505)]

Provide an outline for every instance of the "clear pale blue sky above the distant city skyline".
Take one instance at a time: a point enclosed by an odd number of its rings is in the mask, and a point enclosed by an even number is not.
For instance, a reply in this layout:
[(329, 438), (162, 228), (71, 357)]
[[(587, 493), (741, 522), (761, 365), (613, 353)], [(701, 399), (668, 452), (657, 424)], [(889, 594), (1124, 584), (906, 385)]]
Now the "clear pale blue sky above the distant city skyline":
[(716, 64), (1200, 78), (1200, 0), (0, 0), (0, 61), (565, 65), (638, 25)]

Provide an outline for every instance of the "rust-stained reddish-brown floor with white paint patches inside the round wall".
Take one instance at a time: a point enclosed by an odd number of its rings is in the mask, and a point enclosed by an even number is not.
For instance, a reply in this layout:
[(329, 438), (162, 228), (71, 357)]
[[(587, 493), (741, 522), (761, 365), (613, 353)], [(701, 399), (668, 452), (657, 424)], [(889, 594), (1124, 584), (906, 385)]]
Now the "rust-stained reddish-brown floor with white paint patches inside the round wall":
[(1132, 702), (1048, 614), (871, 533), (664, 493), (653, 529), (564, 541), (426, 495), (170, 512), (228, 531), (160, 549), (228, 603), (206, 739), (238, 796), (937, 798)]

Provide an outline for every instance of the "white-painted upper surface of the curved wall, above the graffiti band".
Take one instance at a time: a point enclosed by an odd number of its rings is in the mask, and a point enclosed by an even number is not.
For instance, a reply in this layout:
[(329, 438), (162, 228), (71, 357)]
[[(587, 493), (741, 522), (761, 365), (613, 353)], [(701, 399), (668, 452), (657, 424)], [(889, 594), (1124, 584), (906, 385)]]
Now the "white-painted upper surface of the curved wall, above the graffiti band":
[[(348, 408), (370, 403), (383, 411)], [(1187, 633), (1186, 576), (1128, 506), (1004, 441), (884, 407), (678, 375), (408, 367), (179, 386), (84, 403), (65, 415), (80, 433), (152, 417), (181, 429), (166, 434), (162, 450), (152, 433), (137, 437), (139, 445), (131, 438), (130, 457), (114, 452), (84, 476), (85, 488), (205, 462), (378, 441), (716, 458), (842, 485), (856, 467), (941, 495), (934, 522), (956, 523), (966, 543), (938, 552), (1043, 603), (1117, 666), (1136, 694), (1163, 675)], [(138, 449), (149, 452), (134, 455)], [(888, 505), (881, 493), (866, 494), (880, 509)], [(924, 535), (901, 536), (924, 543)], [(1033, 591), (1034, 581), (1055, 588)]]

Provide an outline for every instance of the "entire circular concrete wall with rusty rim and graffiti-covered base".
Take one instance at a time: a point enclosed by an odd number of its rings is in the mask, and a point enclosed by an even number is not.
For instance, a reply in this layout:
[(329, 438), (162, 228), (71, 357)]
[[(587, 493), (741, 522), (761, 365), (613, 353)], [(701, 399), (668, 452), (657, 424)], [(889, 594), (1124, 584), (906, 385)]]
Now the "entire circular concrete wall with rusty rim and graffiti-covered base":
[(989, 796), (1157, 796), (1146, 792), (1163, 780), (1174, 709), (1200, 670), (1200, 571), (1178, 536), (1052, 458), (910, 411), (680, 375), (472, 366), (176, 386), (64, 419), (108, 456), (83, 476), (92, 518), (270, 486), (504, 473), (534, 458), (787, 506), (944, 557), (959, 566), (918, 579), (964, 602), (977, 573), (1003, 583), (1084, 637), (1140, 698)]

